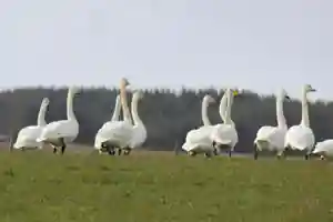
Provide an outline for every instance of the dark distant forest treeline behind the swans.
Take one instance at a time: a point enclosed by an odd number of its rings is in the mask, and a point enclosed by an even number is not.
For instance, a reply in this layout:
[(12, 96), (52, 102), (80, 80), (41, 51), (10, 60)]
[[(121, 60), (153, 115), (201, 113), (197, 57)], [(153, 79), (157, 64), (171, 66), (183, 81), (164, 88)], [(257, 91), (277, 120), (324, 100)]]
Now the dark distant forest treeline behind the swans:
[[(219, 102), (223, 90), (183, 89), (174, 93), (169, 89), (143, 90), (144, 98), (139, 103), (139, 114), (148, 130), (145, 149), (174, 150), (184, 142), (186, 132), (202, 125), (201, 102), (205, 94), (218, 101), (211, 104), (209, 115), (212, 123), (222, 122), (219, 117)], [(118, 89), (83, 89), (74, 99), (74, 112), (80, 123), (78, 143), (93, 144), (94, 135), (100, 127), (111, 119)], [(47, 122), (65, 119), (67, 88), (43, 89), (29, 88), (0, 93), (0, 133), (11, 134), (26, 125), (37, 123), (37, 114), (42, 98), (50, 99), (46, 114)], [(316, 141), (333, 138), (333, 103), (316, 101), (310, 104), (310, 122)], [(284, 102), (284, 114), (289, 125), (301, 121), (301, 103), (299, 100)], [(232, 108), (240, 142), (235, 151), (251, 152), (256, 131), (262, 125), (275, 125), (275, 97), (259, 95), (244, 91), (235, 98)]]

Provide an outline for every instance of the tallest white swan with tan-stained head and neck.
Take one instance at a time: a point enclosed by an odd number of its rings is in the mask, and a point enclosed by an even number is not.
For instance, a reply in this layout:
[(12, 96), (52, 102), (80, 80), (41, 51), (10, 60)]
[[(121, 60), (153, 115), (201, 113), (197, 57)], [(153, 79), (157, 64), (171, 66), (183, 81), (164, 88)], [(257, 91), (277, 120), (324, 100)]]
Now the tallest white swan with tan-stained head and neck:
[(133, 135), (132, 119), (128, 107), (128, 98), (125, 91), (125, 88), (130, 83), (125, 78), (121, 79), (120, 101), (124, 120), (108, 122), (99, 130), (102, 149), (108, 150), (110, 154), (114, 153), (115, 148), (128, 148)]

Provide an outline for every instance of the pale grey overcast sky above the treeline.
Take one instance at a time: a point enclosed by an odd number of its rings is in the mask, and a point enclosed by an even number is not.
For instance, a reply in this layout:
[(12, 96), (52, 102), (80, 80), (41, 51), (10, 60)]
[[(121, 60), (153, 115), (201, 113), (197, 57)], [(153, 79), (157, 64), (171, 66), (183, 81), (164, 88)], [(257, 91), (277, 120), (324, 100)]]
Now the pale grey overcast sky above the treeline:
[(234, 87), (333, 100), (332, 0), (0, 0), (0, 88)]

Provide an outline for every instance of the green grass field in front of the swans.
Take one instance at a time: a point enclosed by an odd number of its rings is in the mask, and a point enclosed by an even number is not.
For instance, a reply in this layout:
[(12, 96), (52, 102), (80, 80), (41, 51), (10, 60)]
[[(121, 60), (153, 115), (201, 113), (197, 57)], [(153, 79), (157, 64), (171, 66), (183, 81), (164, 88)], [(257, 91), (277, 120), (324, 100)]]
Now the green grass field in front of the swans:
[(0, 153), (1, 222), (329, 222), (323, 161)]

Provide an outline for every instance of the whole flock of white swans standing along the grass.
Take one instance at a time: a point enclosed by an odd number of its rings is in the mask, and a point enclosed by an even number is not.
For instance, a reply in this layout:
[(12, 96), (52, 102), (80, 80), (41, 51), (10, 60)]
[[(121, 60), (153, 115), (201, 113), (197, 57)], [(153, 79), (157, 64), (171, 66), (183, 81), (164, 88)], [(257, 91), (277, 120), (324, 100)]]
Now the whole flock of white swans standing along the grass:
[[(140, 118), (139, 104), (144, 100), (141, 90), (132, 90), (131, 107), (128, 105), (128, 92), (130, 82), (122, 78), (120, 81), (120, 93), (118, 94), (113, 108), (112, 118), (98, 130), (94, 138), (94, 149), (100, 154), (129, 155), (133, 149), (141, 148), (148, 132)], [(71, 87), (67, 95), (67, 119), (46, 122), (46, 113), (49, 107), (49, 99), (43, 98), (37, 118), (36, 125), (22, 128), (13, 143), (13, 149), (18, 150), (40, 150), (47, 144), (53, 153), (63, 154), (69, 143), (73, 142), (79, 134), (79, 121), (73, 109), (73, 101), (80, 89)], [(333, 155), (333, 139), (324, 140), (315, 144), (314, 132), (311, 129), (309, 118), (307, 94), (315, 92), (310, 84), (302, 88), (302, 114), (297, 125), (287, 127), (283, 112), (284, 101), (290, 97), (284, 89), (276, 93), (276, 125), (263, 125), (258, 130), (253, 140), (253, 158), (256, 160), (262, 151), (276, 152), (276, 158), (286, 157), (287, 150), (299, 151), (307, 160), (312, 154), (319, 154), (322, 160)], [(204, 154), (208, 158), (219, 155), (226, 151), (232, 155), (239, 142), (236, 125), (232, 120), (232, 104), (234, 99), (242, 98), (238, 89), (226, 89), (219, 105), (221, 123), (212, 124), (208, 114), (210, 104), (216, 100), (205, 94), (201, 104), (202, 125), (192, 129), (186, 133), (182, 150), (190, 157)], [(123, 119), (121, 120), (121, 112)]]

